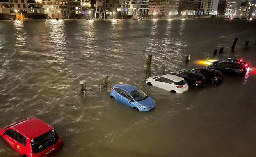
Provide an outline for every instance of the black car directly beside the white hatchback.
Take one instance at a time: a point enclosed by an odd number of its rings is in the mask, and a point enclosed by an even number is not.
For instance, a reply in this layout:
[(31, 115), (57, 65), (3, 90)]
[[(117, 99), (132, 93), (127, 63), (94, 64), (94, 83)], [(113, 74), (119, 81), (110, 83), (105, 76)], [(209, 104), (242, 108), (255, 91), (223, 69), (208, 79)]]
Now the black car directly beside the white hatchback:
[(174, 73), (174, 75), (184, 78), (188, 86), (203, 87), (206, 85), (206, 78), (196, 71), (181, 71)]

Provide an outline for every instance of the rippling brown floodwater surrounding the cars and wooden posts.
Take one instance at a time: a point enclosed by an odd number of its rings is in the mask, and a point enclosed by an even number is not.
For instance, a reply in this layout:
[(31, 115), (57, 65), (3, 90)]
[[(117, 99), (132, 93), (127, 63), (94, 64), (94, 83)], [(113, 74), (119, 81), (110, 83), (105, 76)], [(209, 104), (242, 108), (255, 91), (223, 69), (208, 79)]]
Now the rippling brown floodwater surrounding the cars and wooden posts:
[[(252, 68), (176, 94), (144, 83), (148, 54), (151, 75), (202, 66), (195, 61), (206, 56), (243, 58)], [(0, 22), (0, 65), (0, 127), (28, 117), (47, 122), (64, 142), (52, 157), (256, 156), (255, 20)], [(103, 74), (109, 84), (100, 92)], [(156, 108), (137, 112), (110, 99), (118, 82), (143, 89)], [(0, 139), (0, 157), (19, 156)]]

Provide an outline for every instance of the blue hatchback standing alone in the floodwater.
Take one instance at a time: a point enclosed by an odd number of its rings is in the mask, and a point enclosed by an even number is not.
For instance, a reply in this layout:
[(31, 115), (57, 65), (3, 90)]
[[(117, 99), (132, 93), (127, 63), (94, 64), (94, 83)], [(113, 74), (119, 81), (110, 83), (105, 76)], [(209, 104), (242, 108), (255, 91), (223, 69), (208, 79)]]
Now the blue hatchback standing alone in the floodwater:
[(155, 108), (155, 101), (151, 97), (130, 84), (114, 85), (110, 97), (139, 111), (150, 111)]

